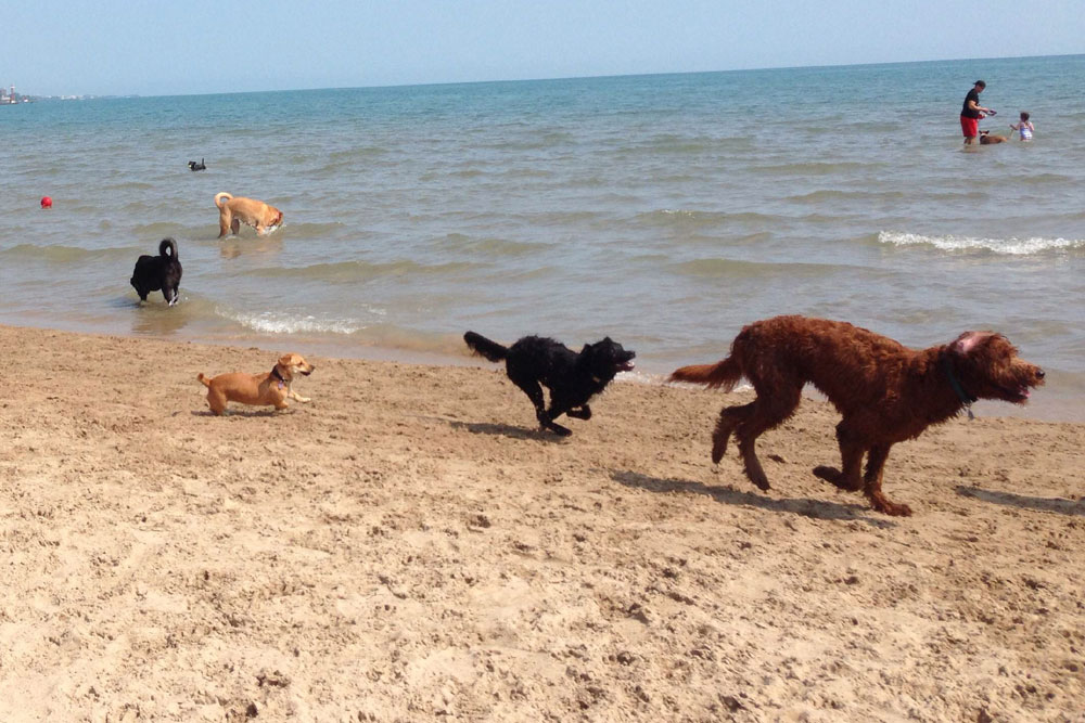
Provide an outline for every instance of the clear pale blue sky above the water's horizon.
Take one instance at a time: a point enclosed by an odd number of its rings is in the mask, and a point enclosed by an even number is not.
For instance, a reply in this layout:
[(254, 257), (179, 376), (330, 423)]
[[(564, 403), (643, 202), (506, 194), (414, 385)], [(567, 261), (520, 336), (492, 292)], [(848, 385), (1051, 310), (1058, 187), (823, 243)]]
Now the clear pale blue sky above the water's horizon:
[(171, 95), (1085, 53), (1085, 0), (0, 1), (0, 83)]

